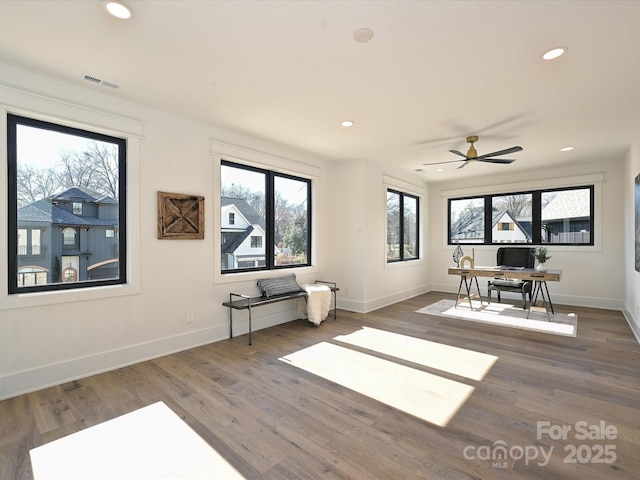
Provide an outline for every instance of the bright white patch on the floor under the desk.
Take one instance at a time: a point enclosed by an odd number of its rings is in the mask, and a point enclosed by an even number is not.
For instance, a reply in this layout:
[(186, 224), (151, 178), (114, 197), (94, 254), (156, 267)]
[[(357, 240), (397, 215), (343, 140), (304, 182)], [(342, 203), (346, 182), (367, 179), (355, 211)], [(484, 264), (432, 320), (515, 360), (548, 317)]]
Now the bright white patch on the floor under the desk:
[(458, 308), (456, 308), (455, 300), (443, 299), (416, 310), (416, 313), (520, 330), (552, 333), (567, 337), (575, 337), (577, 335), (578, 316), (575, 313), (556, 312), (553, 316), (553, 321), (550, 322), (544, 312), (539, 312), (542, 309), (536, 307), (532, 310), (529, 318), (526, 318), (527, 311), (517, 305), (506, 303), (480, 304), (477, 300), (473, 300), (472, 305), (473, 310), (469, 308), (468, 303), (458, 303)]

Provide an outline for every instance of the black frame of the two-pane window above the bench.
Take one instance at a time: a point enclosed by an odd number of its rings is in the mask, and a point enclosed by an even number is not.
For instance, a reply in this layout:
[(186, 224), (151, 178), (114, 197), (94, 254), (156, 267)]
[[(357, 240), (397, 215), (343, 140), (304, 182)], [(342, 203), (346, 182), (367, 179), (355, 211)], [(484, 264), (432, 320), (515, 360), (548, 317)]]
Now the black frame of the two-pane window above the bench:
[[(263, 174), (265, 176), (265, 237), (264, 237), (264, 249), (265, 249), (265, 264), (263, 266), (257, 267), (247, 267), (247, 268), (232, 268), (232, 269), (224, 269), (222, 268), (222, 262), (219, 263), (219, 273), (224, 278), (225, 276), (230, 276), (234, 274), (243, 274), (249, 272), (268, 272), (268, 271), (276, 271), (276, 270), (286, 270), (291, 268), (305, 268), (312, 266), (312, 258), (313, 258), (313, 245), (312, 245), (312, 226), (313, 226), (313, 183), (311, 179), (305, 178), (298, 175), (293, 175), (289, 173), (284, 173), (282, 171), (276, 169), (266, 169), (253, 165), (248, 165), (246, 163), (242, 163), (237, 160), (227, 160), (225, 157), (220, 158), (220, 169), (223, 166), (228, 166), (232, 168), (237, 168), (241, 170), (247, 170), (250, 172), (257, 172)], [(275, 179), (276, 178), (285, 178), (296, 180), (300, 182), (304, 182), (307, 184), (307, 255), (305, 263), (296, 263), (296, 264), (286, 264), (286, 265), (275, 265), (275, 254), (270, 251), (269, 245), (275, 245)], [(221, 179), (220, 179), (221, 180)], [(222, 184), (219, 182), (219, 195), (218, 197), (222, 197)], [(218, 210), (219, 212), (220, 210)], [(222, 242), (222, 236), (221, 236)], [(220, 249), (218, 249), (218, 254), (220, 255)]]

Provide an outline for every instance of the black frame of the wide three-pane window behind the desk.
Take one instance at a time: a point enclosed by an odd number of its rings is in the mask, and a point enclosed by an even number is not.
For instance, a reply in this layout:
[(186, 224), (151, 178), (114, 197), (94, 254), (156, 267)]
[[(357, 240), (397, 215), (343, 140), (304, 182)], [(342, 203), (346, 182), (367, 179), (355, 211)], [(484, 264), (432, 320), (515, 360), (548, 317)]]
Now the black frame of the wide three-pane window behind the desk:
[[(545, 193), (552, 192), (562, 192), (569, 190), (589, 190), (589, 242), (583, 243), (559, 243), (559, 242), (542, 242), (542, 195)], [(595, 210), (596, 210), (596, 202), (595, 202), (595, 185), (594, 184), (583, 184), (583, 185), (572, 185), (572, 186), (557, 186), (552, 188), (540, 188), (540, 189), (531, 189), (531, 190), (522, 190), (522, 191), (513, 191), (513, 192), (504, 192), (501, 191), (499, 193), (489, 193), (483, 195), (468, 195), (468, 196), (460, 196), (460, 197), (449, 197), (447, 198), (447, 245), (455, 246), (455, 245), (488, 245), (488, 246), (496, 246), (496, 245), (513, 245), (513, 246), (522, 246), (522, 245), (531, 245), (531, 246), (558, 246), (558, 247), (593, 247), (596, 243), (596, 232), (595, 232)], [(487, 215), (487, 212), (492, 212), (493, 208), (493, 199), (495, 197), (503, 197), (509, 195), (531, 195), (532, 196), (532, 212), (531, 212), (531, 242), (523, 243), (500, 243), (493, 241), (493, 231), (492, 231), (492, 218), (491, 215)], [(484, 202), (484, 239), (482, 242), (452, 242), (451, 241), (451, 203), (459, 200), (472, 200), (472, 199), (482, 199)]]

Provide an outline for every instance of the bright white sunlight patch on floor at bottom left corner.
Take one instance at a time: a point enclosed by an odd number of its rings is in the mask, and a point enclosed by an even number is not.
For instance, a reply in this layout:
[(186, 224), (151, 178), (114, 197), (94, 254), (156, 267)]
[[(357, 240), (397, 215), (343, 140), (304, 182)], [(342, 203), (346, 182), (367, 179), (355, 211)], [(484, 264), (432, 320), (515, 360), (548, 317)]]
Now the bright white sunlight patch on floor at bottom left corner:
[(162, 402), (29, 453), (34, 480), (244, 479)]

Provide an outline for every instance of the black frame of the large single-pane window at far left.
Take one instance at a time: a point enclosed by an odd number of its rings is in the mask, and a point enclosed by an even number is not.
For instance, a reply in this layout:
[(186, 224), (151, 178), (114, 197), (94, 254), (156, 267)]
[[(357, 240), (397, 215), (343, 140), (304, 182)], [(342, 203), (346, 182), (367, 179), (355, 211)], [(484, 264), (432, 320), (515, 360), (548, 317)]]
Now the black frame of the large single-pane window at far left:
[[(128, 284), (128, 238), (127, 238), (127, 173), (128, 173), (128, 136), (108, 135), (98, 133), (98, 128), (91, 130), (90, 126), (83, 128), (72, 127), (62, 122), (45, 121), (36, 116), (25, 116), (12, 112), (6, 112), (6, 138), (7, 138), (7, 293), (9, 295), (35, 294), (40, 292), (57, 292), (66, 290), (87, 290), (95, 287), (126, 285)], [(19, 286), (18, 277), (18, 187), (17, 187), (17, 131), (18, 126), (24, 125), (68, 135), (79, 136), (90, 140), (115, 144), (118, 149), (118, 265), (119, 276), (113, 279), (86, 280), (73, 283), (47, 283), (34, 286)]]

